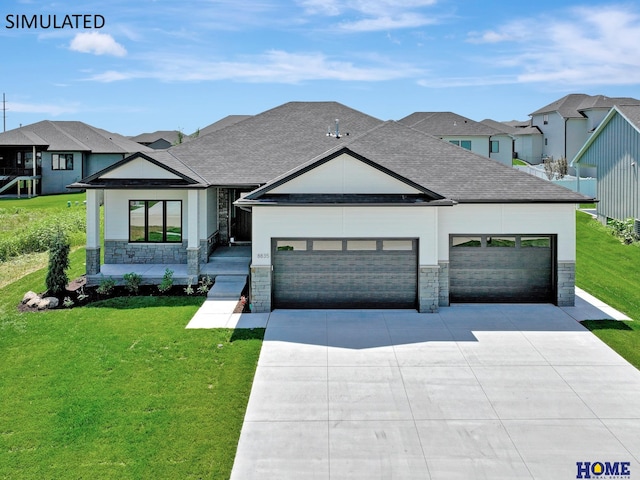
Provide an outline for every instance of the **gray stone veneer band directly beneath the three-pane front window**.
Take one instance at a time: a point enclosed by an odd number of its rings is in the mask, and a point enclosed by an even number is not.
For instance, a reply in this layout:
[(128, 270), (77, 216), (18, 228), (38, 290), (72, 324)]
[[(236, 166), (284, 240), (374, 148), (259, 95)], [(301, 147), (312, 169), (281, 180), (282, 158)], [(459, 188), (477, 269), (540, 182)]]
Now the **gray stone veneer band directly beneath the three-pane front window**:
[(126, 240), (105, 240), (104, 263), (187, 263), (187, 241), (129, 243)]

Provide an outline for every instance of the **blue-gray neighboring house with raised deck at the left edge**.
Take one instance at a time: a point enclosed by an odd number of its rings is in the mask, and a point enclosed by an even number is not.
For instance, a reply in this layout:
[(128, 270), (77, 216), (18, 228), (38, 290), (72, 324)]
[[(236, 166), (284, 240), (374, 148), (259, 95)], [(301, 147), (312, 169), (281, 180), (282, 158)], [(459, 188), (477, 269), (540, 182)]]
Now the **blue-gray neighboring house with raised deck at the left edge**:
[(139, 151), (152, 150), (82, 122), (43, 120), (8, 130), (0, 133), (0, 193), (20, 179), (37, 180), (40, 194), (68, 192), (69, 183)]

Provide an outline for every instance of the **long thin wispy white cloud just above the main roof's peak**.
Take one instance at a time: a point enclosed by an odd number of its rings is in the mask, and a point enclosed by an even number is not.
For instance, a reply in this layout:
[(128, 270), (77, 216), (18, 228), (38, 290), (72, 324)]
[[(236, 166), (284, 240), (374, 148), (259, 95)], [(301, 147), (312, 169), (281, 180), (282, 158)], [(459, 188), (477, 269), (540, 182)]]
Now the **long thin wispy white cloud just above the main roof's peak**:
[(108, 83), (152, 78), (164, 82), (233, 80), (296, 84), (313, 80), (378, 82), (417, 77), (422, 73), (415, 67), (380, 58), (359, 66), (351, 61), (329, 58), (322, 53), (290, 53), (282, 50), (271, 50), (237, 61), (204, 62), (200, 58), (185, 56), (165, 56), (163, 60), (161, 65), (153, 64), (142, 70), (106, 71), (86, 80)]

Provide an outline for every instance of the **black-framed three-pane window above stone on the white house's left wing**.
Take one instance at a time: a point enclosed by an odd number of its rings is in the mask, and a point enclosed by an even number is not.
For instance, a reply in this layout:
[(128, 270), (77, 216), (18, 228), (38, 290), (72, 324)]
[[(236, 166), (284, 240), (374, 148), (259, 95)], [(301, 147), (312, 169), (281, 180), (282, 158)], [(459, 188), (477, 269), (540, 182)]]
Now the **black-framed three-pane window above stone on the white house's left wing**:
[(129, 200), (129, 241), (182, 242), (182, 202)]

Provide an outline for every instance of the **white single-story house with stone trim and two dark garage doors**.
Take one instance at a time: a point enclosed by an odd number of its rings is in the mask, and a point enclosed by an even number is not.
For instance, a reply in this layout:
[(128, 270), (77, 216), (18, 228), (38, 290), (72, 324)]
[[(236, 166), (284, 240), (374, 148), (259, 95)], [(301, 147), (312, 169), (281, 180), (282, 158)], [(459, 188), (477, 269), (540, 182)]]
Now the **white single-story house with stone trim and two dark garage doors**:
[[(339, 128), (335, 119), (339, 119)], [(71, 185), (87, 273), (250, 242), (254, 312), (573, 305), (575, 204), (592, 201), (398, 122), (292, 102)], [(95, 278), (95, 277), (94, 277)]]

